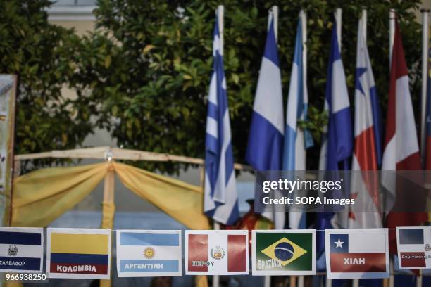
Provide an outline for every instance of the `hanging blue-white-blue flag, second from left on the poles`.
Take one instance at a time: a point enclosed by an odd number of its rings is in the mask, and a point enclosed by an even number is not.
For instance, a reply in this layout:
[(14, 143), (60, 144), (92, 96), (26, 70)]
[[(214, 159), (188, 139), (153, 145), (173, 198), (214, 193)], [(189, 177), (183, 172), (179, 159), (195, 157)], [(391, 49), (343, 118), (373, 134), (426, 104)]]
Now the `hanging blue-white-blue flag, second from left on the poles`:
[[(284, 133), (282, 84), (272, 12), (269, 22), (246, 150), (246, 161), (261, 171), (282, 169)], [(273, 220), (275, 228), (285, 227), (284, 212), (268, 210), (263, 216)]]

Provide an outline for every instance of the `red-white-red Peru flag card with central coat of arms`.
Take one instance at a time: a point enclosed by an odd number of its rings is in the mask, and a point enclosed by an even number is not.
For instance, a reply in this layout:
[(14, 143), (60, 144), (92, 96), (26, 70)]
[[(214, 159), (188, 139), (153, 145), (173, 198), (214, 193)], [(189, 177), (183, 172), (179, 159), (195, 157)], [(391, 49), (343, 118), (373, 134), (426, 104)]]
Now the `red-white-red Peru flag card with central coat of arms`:
[(185, 231), (187, 275), (249, 274), (249, 231)]

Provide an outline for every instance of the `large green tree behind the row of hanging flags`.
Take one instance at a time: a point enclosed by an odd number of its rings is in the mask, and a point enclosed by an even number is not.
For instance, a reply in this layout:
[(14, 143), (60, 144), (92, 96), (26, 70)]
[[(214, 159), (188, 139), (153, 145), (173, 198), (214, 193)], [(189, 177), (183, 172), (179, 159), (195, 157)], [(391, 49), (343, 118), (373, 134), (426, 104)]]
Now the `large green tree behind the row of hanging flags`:
[[(279, 2), (279, 3), (277, 3)], [(268, 9), (280, 8), (278, 44), (283, 92), (287, 95), (298, 14), (308, 15), (308, 94), (316, 141), (320, 142), (330, 33), (335, 8), (343, 8), (342, 57), (351, 102), (354, 95), (357, 21), (368, 9), (368, 46), (377, 90), (386, 105), (389, 81), (389, 8), (398, 11), (418, 95), (420, 25), (418, 0), (400, 1), (125, 1), (100, 0), (98, 32), (86, 44), (99, 59), (85, 63), (91, 102), (99, 103), (99, 125), (127, 148), (204, 156), (208, 81), (211, 75), (214, 9), (225, 5), (225, 73), (235, 160), (244, 161), (254, 92), (266, 37)], [(103, 44), (102, 44), (103, 43)], [(82, 58), (83, 61), (87, 59)], [(94, 65), (93, 65), (94, 64)], [(112, 118), (113, 117), (113, 118)], [(309, 153), (316, 168), (319, 145)], [(313, 160), (314, 159), (314, 160)], [(147, 166), (149, 167), (149, 166)], [(154, 167), (151, 165), (150, 167)], [(160, 167), (160, 166), (158, 166)], [(172, 172), (173, 166), (163, 166)]]

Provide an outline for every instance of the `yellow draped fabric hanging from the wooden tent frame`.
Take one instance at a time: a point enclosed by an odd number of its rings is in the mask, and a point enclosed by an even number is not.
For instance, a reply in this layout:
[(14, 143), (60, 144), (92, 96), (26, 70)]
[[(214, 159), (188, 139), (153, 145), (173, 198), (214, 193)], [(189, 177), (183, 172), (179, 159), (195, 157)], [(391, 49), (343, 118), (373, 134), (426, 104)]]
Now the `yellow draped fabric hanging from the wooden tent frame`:
[[(50, 167), (13, 182), (13, 227), (47, 227), (91, 193), (109, 170), (123, 184), (190, 229), (208, 229), (201, 187), (119, 162), (78, 167)], [(102, 203), (102, 224), (112, 228), (115, 204)]]

